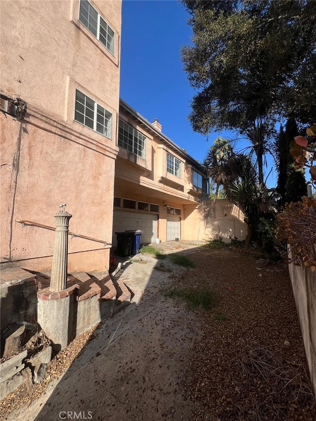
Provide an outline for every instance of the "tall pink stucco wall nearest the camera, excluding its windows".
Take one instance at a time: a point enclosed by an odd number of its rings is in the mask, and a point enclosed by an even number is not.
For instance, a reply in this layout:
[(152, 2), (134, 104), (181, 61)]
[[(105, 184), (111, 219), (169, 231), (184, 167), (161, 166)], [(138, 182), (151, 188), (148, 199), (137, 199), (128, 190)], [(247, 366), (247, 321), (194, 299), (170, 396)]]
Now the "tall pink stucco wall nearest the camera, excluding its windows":
[[(1, 263), (49, 269), (58, 205), (70, 230), (111, 242), (118, 101), (121, 1), (91, 1), (115, 30), (115, 55), (78, 21), (79, 1), (2, 1), (1, 93), (27, 102), (25, 119), (0, 114)], [(16, 35), (12, 37), (12, 33)], [(113, 115), (108, 139), (74, 120), (76, 88)], [(105, 270), (110, 249), (69, 240), (71, 270)]]

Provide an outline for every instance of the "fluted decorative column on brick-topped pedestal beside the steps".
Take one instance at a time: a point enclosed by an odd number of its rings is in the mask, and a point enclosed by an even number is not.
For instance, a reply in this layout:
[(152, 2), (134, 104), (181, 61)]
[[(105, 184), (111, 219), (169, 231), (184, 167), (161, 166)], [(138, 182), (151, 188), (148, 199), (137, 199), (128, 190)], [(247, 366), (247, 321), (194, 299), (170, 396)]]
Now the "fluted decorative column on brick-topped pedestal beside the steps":
[(59, 205), (60, 211), (54, 215), (56, 230), (49, 289), (55, 292), (67, 287), (68, 227), (72, 215), (65, 211), (65, 206), (66, 203)]

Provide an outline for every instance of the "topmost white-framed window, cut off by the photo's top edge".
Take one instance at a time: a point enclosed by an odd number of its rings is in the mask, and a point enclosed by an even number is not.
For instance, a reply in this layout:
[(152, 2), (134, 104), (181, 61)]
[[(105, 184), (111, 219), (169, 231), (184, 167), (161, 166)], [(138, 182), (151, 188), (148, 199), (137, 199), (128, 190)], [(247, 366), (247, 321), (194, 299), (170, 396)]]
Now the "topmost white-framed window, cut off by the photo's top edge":
[(114, 31), (87, 0), (80, 0), (79, 21), (114, 55)]

